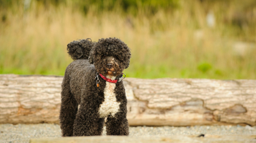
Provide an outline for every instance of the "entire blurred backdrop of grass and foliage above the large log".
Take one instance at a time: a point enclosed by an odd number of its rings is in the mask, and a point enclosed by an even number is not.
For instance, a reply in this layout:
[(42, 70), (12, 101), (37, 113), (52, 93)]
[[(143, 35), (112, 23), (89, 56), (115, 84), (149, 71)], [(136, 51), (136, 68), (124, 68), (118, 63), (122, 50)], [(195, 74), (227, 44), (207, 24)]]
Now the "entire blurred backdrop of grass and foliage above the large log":
[(67, 43), (118, 37), (128, 77), (256, 79), (255, 0), (0, 0), (0, 18), (0, 73), (64, 75)]

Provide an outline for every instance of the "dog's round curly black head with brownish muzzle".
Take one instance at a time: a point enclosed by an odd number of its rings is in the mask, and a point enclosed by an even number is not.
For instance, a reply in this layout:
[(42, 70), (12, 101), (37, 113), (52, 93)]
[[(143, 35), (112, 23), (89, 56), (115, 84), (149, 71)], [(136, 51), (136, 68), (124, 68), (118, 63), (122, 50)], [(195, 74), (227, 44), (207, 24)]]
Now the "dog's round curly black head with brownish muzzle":
[(89, 53), (89, 63), (98, 73), (117, 77), (130, 64), (130, 48), (116, 38), (99, 39)]

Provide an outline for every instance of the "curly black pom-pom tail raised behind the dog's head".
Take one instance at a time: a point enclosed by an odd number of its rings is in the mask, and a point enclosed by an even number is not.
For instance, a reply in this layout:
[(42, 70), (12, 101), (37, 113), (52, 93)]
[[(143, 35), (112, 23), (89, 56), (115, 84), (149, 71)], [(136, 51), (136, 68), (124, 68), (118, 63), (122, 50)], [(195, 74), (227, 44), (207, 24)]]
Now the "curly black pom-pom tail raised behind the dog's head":
[(73, 60), (88, 59), (89, 52), (94, 44), (95, 42), (92, 42), (89, 38), (73, 41), (67, 44), (67, 53), (69, 53)]

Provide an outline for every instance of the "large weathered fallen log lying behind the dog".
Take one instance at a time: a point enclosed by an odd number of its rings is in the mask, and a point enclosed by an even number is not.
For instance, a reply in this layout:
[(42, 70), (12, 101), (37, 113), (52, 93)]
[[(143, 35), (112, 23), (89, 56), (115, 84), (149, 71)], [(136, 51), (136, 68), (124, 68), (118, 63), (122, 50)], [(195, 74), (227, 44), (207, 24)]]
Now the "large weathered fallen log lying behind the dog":
[[(0, 75), (0, 123), (58, 123), (63, 77)], [(130, 126), (256, 125), (255, 80), (124, 79)]]

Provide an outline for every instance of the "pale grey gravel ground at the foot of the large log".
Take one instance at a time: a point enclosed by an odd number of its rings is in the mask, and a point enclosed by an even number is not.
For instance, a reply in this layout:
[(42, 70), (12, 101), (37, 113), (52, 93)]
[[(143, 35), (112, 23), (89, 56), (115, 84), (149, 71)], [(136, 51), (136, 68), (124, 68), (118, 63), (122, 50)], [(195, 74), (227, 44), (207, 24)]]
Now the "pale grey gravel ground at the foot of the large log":
[[(104, 128), (103, 135), (106, 135)], [(130, 137), (152, 135), (256, 135), (256, 126), (130, 127)], [(0, 142), (29, 142), (30, 138), (61, 137), (58, 124), (0, 124)]]

